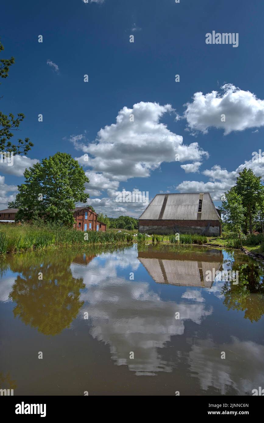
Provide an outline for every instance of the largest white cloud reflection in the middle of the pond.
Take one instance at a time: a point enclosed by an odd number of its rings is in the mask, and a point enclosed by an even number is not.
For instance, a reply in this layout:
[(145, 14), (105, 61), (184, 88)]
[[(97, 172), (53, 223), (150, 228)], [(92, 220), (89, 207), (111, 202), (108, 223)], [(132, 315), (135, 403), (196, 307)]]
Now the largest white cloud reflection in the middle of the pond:
[[(163, 361), (157, 349), (165, 347), (172, 335), (184, 333), (184, 321), (201, 324), (203, 318), (212, 314), (212, 307), (164, 301), (149, 289), (148, 283), (129, 280), (130, 269), (134, 270), (139, 264), (131, 257), (127, 262), (127, 279), (117, 276), (117, 267), (122, 262), (124, 268), (124, 260), (106, 256), (103, 268), (97, 266), (101, 263), (95, 260), (86, 268), (71, 265), (73, 276), (83, 277), (87, 287), (81, 300), (87, 302), (83, 310), (88, 311), (92, 319), (93, 338), (110, 345), (115, 364), (125, 364), (137, 375), (172, 371), (175, 364)], [(175, 319), (176, 311), (180, 319)], [(135, 354), (134, 360), (129, 359), (131, 351)]]

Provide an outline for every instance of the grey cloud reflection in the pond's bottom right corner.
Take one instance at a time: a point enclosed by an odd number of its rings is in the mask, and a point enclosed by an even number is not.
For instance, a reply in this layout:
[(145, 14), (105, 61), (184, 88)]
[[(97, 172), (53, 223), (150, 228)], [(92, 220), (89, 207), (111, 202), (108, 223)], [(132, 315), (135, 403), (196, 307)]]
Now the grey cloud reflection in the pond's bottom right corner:
[[(222, 351), (225, 359), (221, 359)], [(188, 362), (192, 377), (200, 380), (203, 390), (214, 387), (226, 395), (230, 388), (237, 395), (252, 395), (252, 389), (263, 385), (264, 346), (252, 341), (232, 337), (232, 343), (216, 346), (212, 340), (198, 340)]]

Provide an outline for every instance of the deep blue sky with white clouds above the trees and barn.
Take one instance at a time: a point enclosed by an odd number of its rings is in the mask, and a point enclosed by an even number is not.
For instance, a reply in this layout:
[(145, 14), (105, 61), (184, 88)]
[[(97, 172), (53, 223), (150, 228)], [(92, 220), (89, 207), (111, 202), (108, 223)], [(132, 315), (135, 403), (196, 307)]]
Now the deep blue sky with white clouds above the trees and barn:
[[(264, 151), (263, 12), (246, 0), (6, 2), (1, 58), (15, 64), (1, 81), (1, 111), (25, 114), (13, 139), (34, 147), (0, 164), (0, 208), (25, 168), (57, 151), (78, 158), (87, 202), (113, 217), (145, 208), (117, 203), (118, 190), (148, 191), (149, 200), (210, 192), (219, 205), (243, 167), (264, 176), (264, 163), (252, 162)], [(238, 33), (238, 47), (206, 44), (212, 31)]]

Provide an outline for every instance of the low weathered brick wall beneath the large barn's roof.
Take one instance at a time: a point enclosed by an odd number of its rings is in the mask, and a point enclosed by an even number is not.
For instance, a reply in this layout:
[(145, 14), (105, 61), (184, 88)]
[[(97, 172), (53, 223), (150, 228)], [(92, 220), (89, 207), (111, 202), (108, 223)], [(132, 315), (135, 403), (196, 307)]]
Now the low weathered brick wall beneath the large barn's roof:
[(221, 223), (219, 220), (143, 220), (138, 221), (141, 233), (168, 234), (179, 233), (201, 233), (210, 222), (209, 230), (206, 235), (219, 236), (221, 234)]

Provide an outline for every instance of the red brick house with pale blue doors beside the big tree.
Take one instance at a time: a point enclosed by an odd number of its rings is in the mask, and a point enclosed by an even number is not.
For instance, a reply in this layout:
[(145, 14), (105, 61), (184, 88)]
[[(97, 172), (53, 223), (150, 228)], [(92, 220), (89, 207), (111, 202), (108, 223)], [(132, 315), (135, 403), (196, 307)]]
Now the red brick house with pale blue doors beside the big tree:
[(106, 231), (106, 224), (97, 220), (97, 214), (89, 207), (76, 207), (73, 213), (77, 231)]

